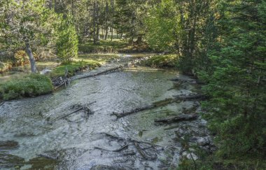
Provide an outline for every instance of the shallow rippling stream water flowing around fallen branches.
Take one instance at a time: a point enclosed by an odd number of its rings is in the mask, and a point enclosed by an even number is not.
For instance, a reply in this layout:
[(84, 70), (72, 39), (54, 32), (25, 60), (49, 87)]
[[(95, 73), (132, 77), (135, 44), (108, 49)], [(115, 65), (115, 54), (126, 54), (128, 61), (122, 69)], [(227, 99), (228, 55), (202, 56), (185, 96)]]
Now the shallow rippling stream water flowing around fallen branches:
[[(121, 55), (119, 61), (73, 79), (132, 59), (131, 55)], [(0, 169), (174, 169), (180, 157), (187, 156), (180, 143), (184, 135), (191, 135), (190, 143), (206, 146), (206, 122), (199, 118), (160, 125), (154, 120), (184, 111), (199, 113), (198, 101), (169, 104), (118, 120), (111, 113), (148, 106), (173, 95), (197, 93), (191, 83), (174, 87), (169, 79), (177, 77), (190, 80), (175, 70), (137, 66), (73, 80), (69, 87), (53, 94), (7, 101), (0, 106)], [(78, 111), (58, 119), (86, 105), (93, 114)], [(130, 140), (147, 142), (137, 143), (146, 157)]]

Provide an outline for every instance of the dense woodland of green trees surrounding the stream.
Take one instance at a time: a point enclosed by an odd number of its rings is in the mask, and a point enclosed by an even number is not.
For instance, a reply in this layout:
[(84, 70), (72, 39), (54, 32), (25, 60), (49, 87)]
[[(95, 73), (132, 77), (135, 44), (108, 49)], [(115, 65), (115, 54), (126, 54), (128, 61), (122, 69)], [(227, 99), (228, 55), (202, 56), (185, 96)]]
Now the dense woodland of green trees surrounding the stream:
[(67, 64), (86, 43), (117, 39), (174, 55), (172, 66), (197, 78), (209, 98), (203, 116), (218, 149), (203, 169), (215, 169), (216, 159), (246, 169), (263, 163), (265, 0), (5, 0), (0, 27), (0, 69), (21, 50), (36, 73), (36, 59)]

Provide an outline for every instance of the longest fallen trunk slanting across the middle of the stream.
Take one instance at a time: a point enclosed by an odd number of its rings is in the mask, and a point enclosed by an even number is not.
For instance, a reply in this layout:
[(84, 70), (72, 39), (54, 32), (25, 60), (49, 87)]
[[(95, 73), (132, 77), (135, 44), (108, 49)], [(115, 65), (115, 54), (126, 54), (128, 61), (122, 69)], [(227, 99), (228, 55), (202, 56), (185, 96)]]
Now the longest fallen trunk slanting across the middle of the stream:
[(193, 94), (193, 95), (188, 95), (188, 96), (174, 96), (174, 98), (167, 98), (165, 100), (162, 101), (156, 101), (154, 102), (152, 105), (149, 106), (144, 106), (141, 108), (135, 108), (132, 111), (127, 111), (127, 112), (122, 112), (122, 113), (111, 113), (111, 115), (116, 115), (116, 118), (123, 118), (127, 115), (132, 115), (133, 113), (138, 113), (140, 111), (146, 111), (146, 110), (150, 110), (152, 108), (157, 108), (157, 107), (161, 107), (161, 106), (166, 106), (168, 104), (172, 104), (174, 102), (181, 102), (181, 101), (189, 101), (189, 100), (203, 100), (203, 99), (207, 99), (206, 96), (202, 95), (202, 94)]

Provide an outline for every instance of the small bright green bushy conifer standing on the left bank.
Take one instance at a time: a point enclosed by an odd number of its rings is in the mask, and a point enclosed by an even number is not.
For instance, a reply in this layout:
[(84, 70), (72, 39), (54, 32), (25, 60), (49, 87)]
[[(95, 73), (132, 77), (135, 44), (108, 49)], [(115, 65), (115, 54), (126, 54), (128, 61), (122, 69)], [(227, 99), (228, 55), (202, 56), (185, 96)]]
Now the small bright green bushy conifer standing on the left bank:
[(69, 63), (78, 57), (78, 36), (70, 16), (66, 16), (59, 26), (56, 47), (57, 57), (62, 63)]

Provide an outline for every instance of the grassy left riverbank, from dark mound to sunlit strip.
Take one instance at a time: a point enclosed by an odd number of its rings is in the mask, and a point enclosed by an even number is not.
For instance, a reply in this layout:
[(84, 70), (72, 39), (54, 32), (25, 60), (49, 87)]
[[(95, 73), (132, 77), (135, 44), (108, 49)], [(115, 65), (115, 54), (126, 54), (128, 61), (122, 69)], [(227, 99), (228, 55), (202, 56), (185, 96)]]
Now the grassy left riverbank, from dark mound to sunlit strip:
[[(46, 66), (43, 74), (38, 75), (31, 73), (18, 74), (9, 80), (0, 83), (0, 100), (18, 99), (21, 97), (36, 97), (42, 94), (52, 92), (55, 87), (54, 81), (58, 78), (66, 76), (69, 78), (80, 71), (87, 69), (92, 70), (112, 59), (118, 55), (81, 55), (69, 64), (57, 64), (57, 62), (37, 62), (41, 68)], [(97, 58), (97, 59), (96, 59)], [(48, 67), (49, 66), (49, 67)], [(49, 69), (47, 69), (47, 67)], [(66, 73), (67, 71), (67, 73)]]

